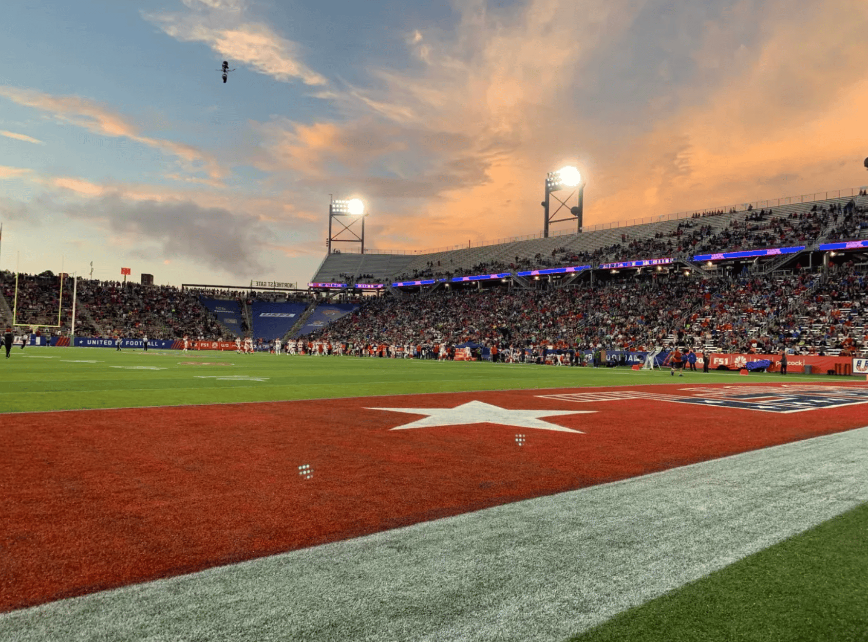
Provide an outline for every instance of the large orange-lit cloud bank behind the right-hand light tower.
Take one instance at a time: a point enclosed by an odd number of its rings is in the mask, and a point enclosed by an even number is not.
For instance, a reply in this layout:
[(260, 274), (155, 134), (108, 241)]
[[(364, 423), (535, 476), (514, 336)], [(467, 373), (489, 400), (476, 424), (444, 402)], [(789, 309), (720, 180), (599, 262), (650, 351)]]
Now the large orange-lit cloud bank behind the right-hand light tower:
[[(376, 197), (372, 243), (408, 249), (538, 233), (545, 173), (565, 161), (588, 177), (589, 225), (868, 182), (868, 4), (702, 6), (713, 19), (676, 22), (695, 36), (687, 49), (648, 35), (648, 16), (627, 0), (458, 5), (454, 31), (407, 38), (413, 69), (372, 69), (376, 86), (320, 94), (345, 121), (264, 126), (272, 168)], [(663, 51), (635, 79), (648, 102), (636, 103), (637, 86), (617, 113), (607, 56), (643, 38)], [(690, 75), (668, 62), (678, 47)], [(579, 90), (593, 110), (576, 107)], [(365, 141), (383, 145), (361, 148), (365, 171), (345, 143), (363, 118), (376, 123)]]

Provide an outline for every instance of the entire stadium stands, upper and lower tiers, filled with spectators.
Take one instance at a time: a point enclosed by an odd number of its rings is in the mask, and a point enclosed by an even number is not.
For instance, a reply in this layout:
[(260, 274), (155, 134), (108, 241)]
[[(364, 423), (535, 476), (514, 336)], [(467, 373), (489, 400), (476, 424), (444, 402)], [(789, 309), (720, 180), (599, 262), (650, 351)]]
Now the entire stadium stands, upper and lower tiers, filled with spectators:
[[(868, 247), (863, 250), (858, 242), (850, 243), (849, 253), (837, 252), (830, 260), (833, 254), (819, 252), (819, 244), (865, 238), (868, 196), (859, 194), (430, 253), (328, 255), (314, 280), (386, 284), (377, 297), (355, 293), (356, 303), (347, 302), (352, 300), (348, 296), (354, 292), (352, 287), (332, 292), (325, 300), (320, 292), (287, 302), (287, 292), (194, 291), (80, 278), (76, 335), (212, 340), (253, 335), (266, 341), (312, 335), (357, 341), (364, 337), (503, 342), (505, 330), (511, 333), (509, 340), (531, 343), (624, 347), (687, 337), (690, 345), (707, 350), (746, 350), (759, 344), (828, 354), (860, 351), (868, 344), (864, 295)], [(727, 264), (728, 272), (717, 269), (718, 265), (691, 261), (700, 252), (796, 244), (806, 246), (802, 255), (779, 253), (762, 257), (765, 262)], [(503, 284), (497, 278), (486, 287), (482, 282), (453, 281), (431, 291), (416, 287), (404, 292), (390, 285), (391, 279), (402, 277), (448, 280), (563, 265), (597, 268), (608, 261), (664, 257), (673, 262), (659, 266), (662, 272), (595, 269), (595, 276), (583, 279), (581, 285), (569, 278), (560, 281), (557, 275), (555, 280), (507, 278), (510, 283)], [(820, 265), (823, 259), (829, 265)], [(562, 287), (569, 283), (569, 288)], [(59, 285), (60, 278), (50, 272), (19, 276), (15, 311), (19, 327), (42, 326), (69, 335), (72, 281), (64, 281), (62, 301)], [(481, 290), (470, 292), (470, 288)], [(340, 294), (340, 302), (329, 302), (335, 294)], [(3, 324), (12, 323), (14, 297), (15, 275), (0, 273)], [(61, 327), (49, 328), (57, 324), (58, 311)]]

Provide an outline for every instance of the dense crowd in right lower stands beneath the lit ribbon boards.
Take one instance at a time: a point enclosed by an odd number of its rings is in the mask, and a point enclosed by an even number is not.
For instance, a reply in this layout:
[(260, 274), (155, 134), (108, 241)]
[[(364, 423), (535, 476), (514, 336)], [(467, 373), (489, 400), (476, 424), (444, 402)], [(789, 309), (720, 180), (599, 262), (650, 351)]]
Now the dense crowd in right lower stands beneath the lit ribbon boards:
[[(832, 291), (852, 301), (861, 285), (861, 277), (848, 276)], [(818, 288), (819, 275), (807, 272), (705, 280), (676, 272), (564, 289), (441, 290), (424, 298), (368, 301), (312, 338), (355, 345), (470, 343), (500, 350), (539, 345), (650, 350), (667, 344), (746, 353), (865, 350), (868, 338), (856, 331), (842, 334), (833, 323), (832, 294)], [(792, 327), (796, 311), (812, 315), (801, 324), (823, 324), (825, 333)], [(851, 324), (859, 312), (856, 305), (848, 313)]]

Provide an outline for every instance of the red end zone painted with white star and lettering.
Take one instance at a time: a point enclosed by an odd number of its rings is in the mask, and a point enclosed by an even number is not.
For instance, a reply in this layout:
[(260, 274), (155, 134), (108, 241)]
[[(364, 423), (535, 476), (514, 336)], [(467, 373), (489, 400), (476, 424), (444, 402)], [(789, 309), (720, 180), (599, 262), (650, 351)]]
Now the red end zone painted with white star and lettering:
[(858, 428), (866, 402), (681, 382), (6, 415), (0, 611)]

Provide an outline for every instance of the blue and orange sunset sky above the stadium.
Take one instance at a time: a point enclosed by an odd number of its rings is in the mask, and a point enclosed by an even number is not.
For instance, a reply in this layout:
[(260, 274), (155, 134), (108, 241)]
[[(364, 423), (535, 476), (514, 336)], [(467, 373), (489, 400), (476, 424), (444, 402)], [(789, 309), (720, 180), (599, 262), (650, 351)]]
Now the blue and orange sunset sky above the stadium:
[[(306, 283), (375, 248), (868, 184), (865, 0), (13, 0), (0, 268)], [(236, 68), (220, 81), (220, 61)]]

